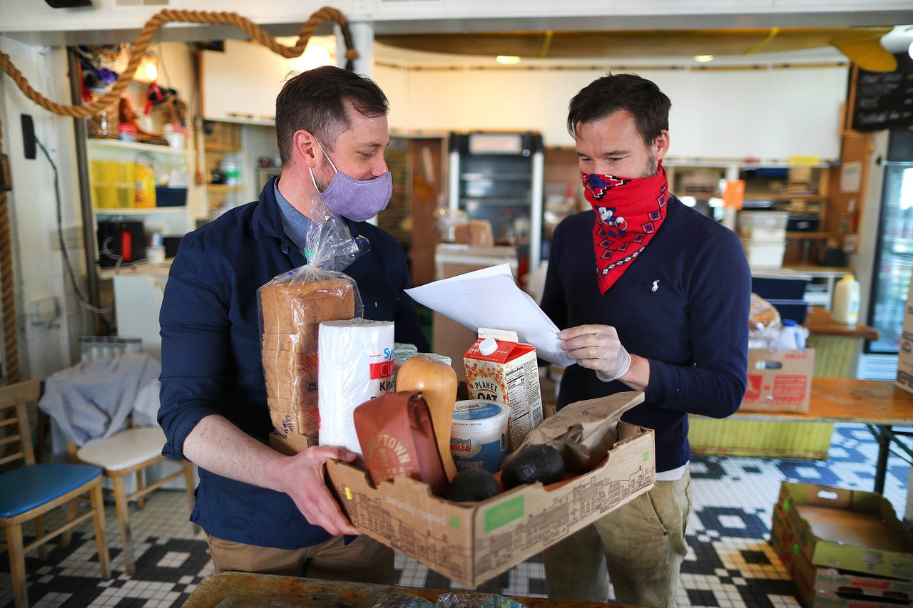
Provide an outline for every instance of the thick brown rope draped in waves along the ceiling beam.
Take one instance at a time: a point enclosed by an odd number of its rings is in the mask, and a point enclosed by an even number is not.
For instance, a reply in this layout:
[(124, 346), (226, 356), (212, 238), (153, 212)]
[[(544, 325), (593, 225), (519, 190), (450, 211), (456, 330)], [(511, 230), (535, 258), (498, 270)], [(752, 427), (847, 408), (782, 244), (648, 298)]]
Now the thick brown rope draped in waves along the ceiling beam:
[(149, 43), (152, 41), (152, 37), (155, 35), (155, 32), (158, 31), (159, 27), (163, 26), (166, 23), (171, 21), (182, 21), (188, 23), (206, 23), (206, 24), (215, 24), (221, 26), (235, 26), (238, 29), (243, 30), (250, 36), (252, 39), (257, 41), (259, 44), (264, 47), (268, 47), (269, 50), (281, 55), (284, 58), (295, 58), (299, 57), (302, 52), (304, 52), (304, 47), (307, 47), (308, 40), (313, 36), (314, 32), (317, 31), (318, 27), (323, 24), (324, 21), (334, 21), (339, 24), (342, 29), (342, 38), (346, 45), (345, 58), (349, 61), (358, 58), (358, 51), (352, 47), (352, 33), (349, 30), (349, 22), (335, 8), (329, 6), (324, 6), (319, 11), (310, 16), (310, 18), (305, 22), (299, 31), (298, 41), (292, 47), (286, 47), (280, 45), (275, 38), (269, 36), (264, 32), (257, 24), (252, 23), (246, 17), (238, 16), (236, 13), (213, 13), (208, 11), (175, 11), (170, 9), (164, 9), (163, 11), (153, 15), (149, 21), (146, 22), (145, 26), (142, 26), (142, 31), (140, 36), (136, 39), (136, 42), (133, 43), (131, 47), (130, 60), (127, 63), (127, 67), (124, 68), (121, 75), (114, 82), (110, 91), (101, 96), (97, 100), (93, 100), (88, 105), (79, 105), (79, 106), (65, 106), (54, 101), (48, 100), (37, 90), (32, 89), (28, 84), (28, 80), (22, 75), (16, 66), (10, 61), (8, 55), (3, 51), (0, 51), (0, 67), (3, 68), (5, 73), (9, 75), (16, 86), (26, 94), (26, 97), (32, 101), (35, 101), (39, 106), (59, 114), (61, 116), (72, 116), (77, 118), (85, 118), (87, 116), (94, 116), (101, 110), (105, 110), (110, 107), (115, 102), (121, 100), (121, 93), (127, 86), (130, 84), (131, 79), (133, 79), (133, 73), (136, 72), (136, 68), (139, 67), (140, 61), (142, 61), (143, 56), (146, 52), (146, 47), (149, 46)]

